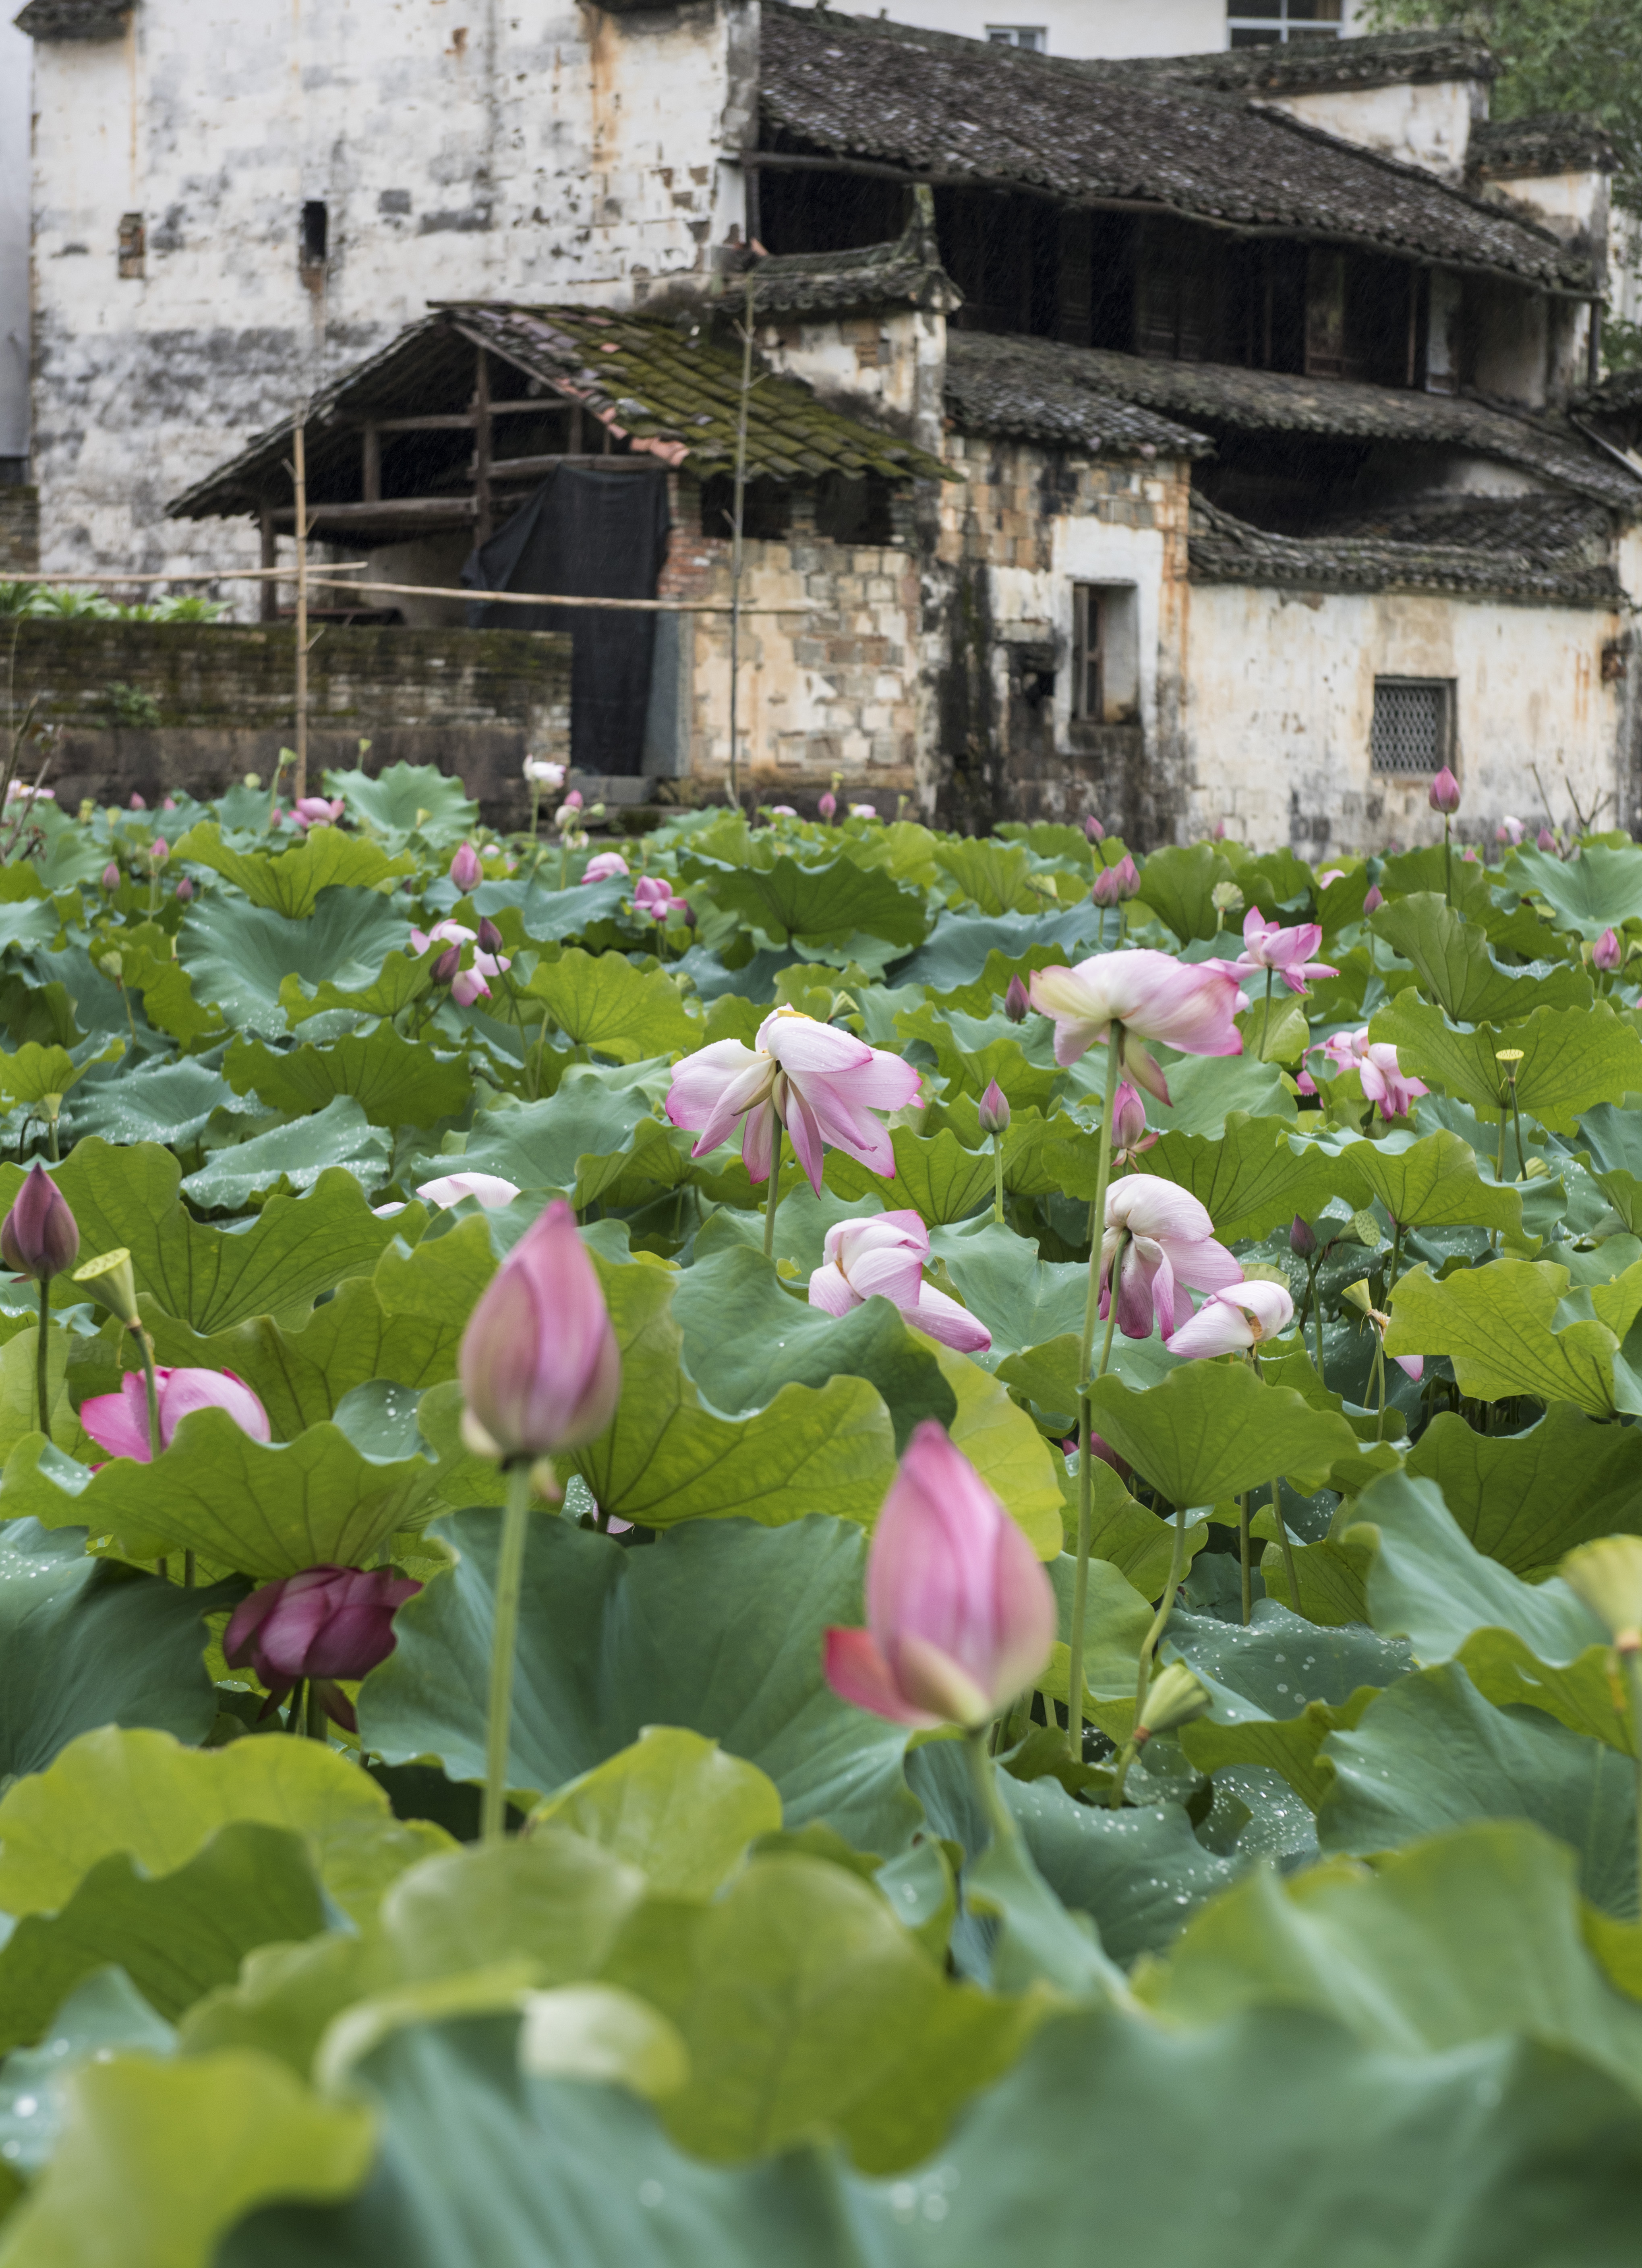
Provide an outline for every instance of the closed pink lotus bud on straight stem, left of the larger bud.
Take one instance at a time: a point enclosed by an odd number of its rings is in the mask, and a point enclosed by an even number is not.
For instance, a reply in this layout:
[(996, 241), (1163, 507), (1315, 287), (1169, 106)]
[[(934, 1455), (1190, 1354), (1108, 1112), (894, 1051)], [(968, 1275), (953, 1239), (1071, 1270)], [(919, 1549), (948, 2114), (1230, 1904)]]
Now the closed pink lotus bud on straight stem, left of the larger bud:
[(474, 1309), (458, 1356), (463, 1438), (479, 1456), (551, 1456), (596, 1440), (621, 1397), (621, 1352), (576, 1216), (556, 1198)]

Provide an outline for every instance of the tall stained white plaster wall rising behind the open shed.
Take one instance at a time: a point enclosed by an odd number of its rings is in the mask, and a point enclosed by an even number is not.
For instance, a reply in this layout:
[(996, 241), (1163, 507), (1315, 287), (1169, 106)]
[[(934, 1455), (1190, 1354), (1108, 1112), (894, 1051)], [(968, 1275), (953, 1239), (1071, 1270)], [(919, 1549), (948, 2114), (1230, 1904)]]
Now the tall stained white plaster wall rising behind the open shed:
[[(630, 302), (739, 240), (751, 0), (143, 0), (36, 48), (45, 565), (254, 562), (163, 503), (429, 299)], [(299, 268), (302, 206), (329, 256)], [(122, 213), (145, 274), (118, 277)]]

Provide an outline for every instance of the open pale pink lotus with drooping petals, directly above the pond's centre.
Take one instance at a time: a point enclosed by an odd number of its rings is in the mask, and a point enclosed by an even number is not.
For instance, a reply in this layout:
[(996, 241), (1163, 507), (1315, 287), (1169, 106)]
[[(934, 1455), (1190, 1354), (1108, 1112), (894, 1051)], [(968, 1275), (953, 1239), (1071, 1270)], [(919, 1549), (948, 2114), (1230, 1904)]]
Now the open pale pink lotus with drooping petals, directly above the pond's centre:
[(798, 1009), (778, 1007), (757, 1027), (757, 1048), (719, 1039), (674, 1068), (667, 1116), (699, 1129), (692, 1157), (705, 1157), (742, 1120), (742, 1157), (755, 1182), (769, 1179), (776, 1127), (785, 1125), (810, 1186), (821, 1195), (821, 1150), (894, 1175), (896, 1148), (873, 1111), (919, 1100), (912, 1064)]

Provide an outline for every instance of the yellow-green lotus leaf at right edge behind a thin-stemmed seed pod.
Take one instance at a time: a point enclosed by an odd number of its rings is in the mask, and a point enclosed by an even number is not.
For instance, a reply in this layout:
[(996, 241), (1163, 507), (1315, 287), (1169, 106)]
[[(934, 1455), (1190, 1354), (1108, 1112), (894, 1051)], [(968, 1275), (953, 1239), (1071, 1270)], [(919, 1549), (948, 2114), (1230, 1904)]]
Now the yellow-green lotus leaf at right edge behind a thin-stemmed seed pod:
[(1606, 1000), (1588, 1009), (1540, 1007), (1526, 1023), (1479, 1023), (1456, 1032), (1440, 1007), (1413, 991), (1381, 1007), (1374, 1041), (1390, 1041), (1404, 1070), (1456, 1095), (1483, 1118), (1499, 1116), (1506, 1093), (1501, 1050), (1520, 1048), (1517, 1107), (1567, 1132), (1592, 1102), (1615, 1102), (1642, 1089), (1642, 1039)]

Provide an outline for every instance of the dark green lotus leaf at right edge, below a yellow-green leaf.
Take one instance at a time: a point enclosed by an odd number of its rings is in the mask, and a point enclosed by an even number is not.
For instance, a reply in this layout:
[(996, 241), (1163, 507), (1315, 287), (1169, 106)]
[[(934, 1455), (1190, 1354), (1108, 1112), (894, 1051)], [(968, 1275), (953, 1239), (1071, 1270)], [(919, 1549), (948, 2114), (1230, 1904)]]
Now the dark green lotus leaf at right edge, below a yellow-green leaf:
[(1433, 1417), (1406, 1458), (1436, 1481), (1463, 1535), (1520, 1576), (1549, 1574), (1597, 1535), (1642, 1533), (1642, 1433), (1567, 1402), (1526, 1433), (1479, 1433)]

